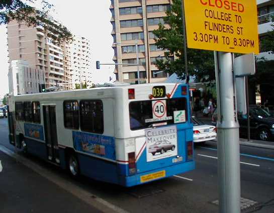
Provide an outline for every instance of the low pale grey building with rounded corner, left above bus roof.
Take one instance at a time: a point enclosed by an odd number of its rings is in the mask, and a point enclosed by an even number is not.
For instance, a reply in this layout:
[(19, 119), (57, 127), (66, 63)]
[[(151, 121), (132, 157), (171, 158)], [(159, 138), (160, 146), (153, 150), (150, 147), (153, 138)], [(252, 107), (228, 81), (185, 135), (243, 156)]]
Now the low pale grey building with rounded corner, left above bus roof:
[(43, 70), (31, 68), (26, 60), (11, 61), (8, 77), (12, 95), (39, 93), (45, 84)]

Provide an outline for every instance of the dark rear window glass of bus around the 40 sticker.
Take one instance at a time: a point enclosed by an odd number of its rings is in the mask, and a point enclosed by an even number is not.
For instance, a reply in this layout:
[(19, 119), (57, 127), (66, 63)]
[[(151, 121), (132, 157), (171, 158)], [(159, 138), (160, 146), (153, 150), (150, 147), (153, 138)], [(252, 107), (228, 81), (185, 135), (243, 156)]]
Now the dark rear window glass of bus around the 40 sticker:
[[(166, 101), (166, 117), (172, 119), (164, 121), (146, 122), (148, 119), (153, 118), (152, 114), (152, 101), (133, 101), (129, 103), (130, 115), (130, 129), (137, 130), (152, 127), (152, 124), (166, 122), (167, 124), (174, 124), (173, 112), (185, 110), (187, 120), (187, 100), (186, 98), (165, 99)], [(178, 122), (176, 122), (178, 123)]]

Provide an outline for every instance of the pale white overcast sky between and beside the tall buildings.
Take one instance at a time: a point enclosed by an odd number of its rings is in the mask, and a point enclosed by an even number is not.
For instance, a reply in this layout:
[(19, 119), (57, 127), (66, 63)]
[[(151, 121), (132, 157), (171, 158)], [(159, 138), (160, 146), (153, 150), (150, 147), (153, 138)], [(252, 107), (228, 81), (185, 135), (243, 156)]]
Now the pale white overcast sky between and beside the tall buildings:
[[(96, 61), (101, 63), (114, 63), (112, 49), (113, 38), (111, 36), (112, 25), (110, 0), (48, 0), (54, 5), (52, 15), (62, 22), (73, 34), (86, 37), (91, 42), (93, 83), (109, 82), (109, 77), (115, 81), (113, 65), (101, 65), (96, 69)], [(96, 3), (96, 4), (95, 4)], [(0, 26), (0, 99), (9, 92), (8, 86), (8, 46), (7, 28)]]

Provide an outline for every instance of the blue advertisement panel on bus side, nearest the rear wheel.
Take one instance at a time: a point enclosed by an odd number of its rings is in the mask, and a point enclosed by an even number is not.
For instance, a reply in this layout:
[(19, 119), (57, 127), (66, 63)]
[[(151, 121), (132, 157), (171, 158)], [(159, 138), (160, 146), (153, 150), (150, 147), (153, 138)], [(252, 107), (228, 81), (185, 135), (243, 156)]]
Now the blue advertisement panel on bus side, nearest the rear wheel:
[(116, 160), (113, 137), (78, 131), (73, 131), (72, 137), (75, 150)]

